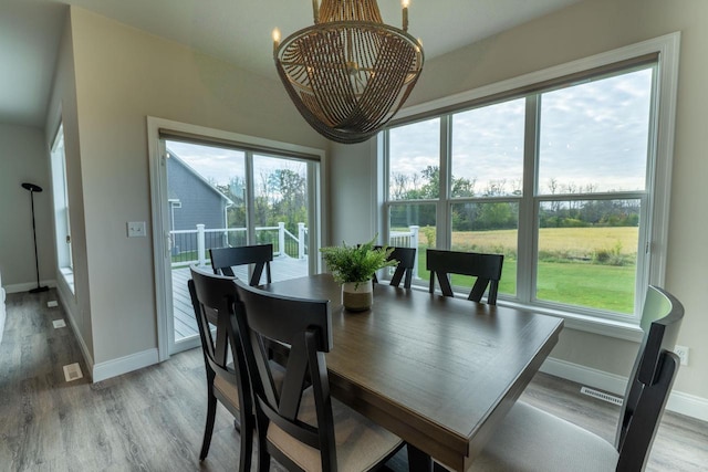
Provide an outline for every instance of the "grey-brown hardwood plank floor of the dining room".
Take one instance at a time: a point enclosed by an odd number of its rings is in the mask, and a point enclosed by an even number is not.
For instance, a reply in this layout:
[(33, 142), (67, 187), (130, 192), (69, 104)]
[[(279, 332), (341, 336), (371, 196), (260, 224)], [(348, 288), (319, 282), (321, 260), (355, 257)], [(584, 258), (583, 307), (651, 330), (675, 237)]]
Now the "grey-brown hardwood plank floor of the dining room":
[[(226, 471), (238, 465), (239, 437), (219, 407), (209, 457), (199, 462), (206, 401), (199, 349), (118, 378), (66, 382), (79, 363), (71, 327), (55, 329), (54, 291), (8, 295), (0, 344), (0, 471)], [(580, 386), (538, 375), (523, 400), (612, 441), (618, 407), (579, 394)], [(256, 459), (256, 458), (254, 458)], [(667, 412), (647, 470), (700, 471), (708, 424)], [(406, 470), (405, 450), (388, 464)], [(281, 471), (273, 463), (271, 470)]]

